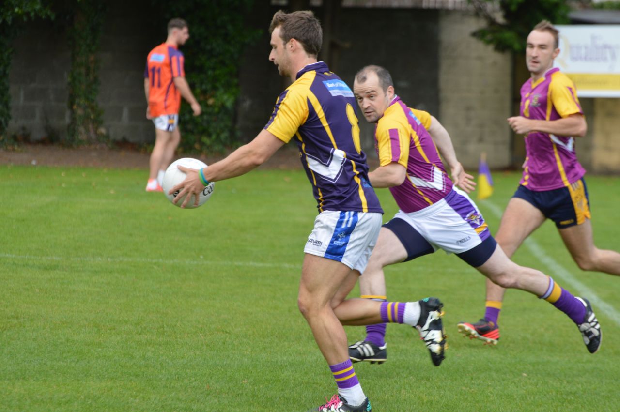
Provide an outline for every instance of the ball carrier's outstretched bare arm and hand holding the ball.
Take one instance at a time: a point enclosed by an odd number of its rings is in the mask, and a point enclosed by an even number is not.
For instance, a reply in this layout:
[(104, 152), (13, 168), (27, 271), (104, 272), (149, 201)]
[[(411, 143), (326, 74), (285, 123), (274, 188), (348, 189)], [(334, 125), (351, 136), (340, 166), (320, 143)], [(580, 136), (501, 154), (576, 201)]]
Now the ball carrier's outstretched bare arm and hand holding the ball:
[[(215, 162), (203, 169), (203, 174), (208, 182), (217, 182), (218, 180), (241, 176), (262, 165), (283, 145), (283, 141), (263, 129), (254, 140), (239, 147), (224, 159), (219, 160), (219, 162)], [(205, 185), (200, 181), (200, 177), (198, 177), (198, 170), (183, 166), (179, 166), (179, 170), (185, 172), (187, 177), (183, 182), (170, 190), (170, 194), (179, 190), (179, 195), (172, 202), (176, 204), (178, 199), (183, 198), (188, 193), (190, 196), (186, 196), (185, 201), (181, 204), (181, 208), (184, 208), (188, 199), (192, 197), (191, 194), (194, 193), (196, 195), (194, 196), (196, 199), (195, 204), (198, 206), (198, 193), (205, 188)]]

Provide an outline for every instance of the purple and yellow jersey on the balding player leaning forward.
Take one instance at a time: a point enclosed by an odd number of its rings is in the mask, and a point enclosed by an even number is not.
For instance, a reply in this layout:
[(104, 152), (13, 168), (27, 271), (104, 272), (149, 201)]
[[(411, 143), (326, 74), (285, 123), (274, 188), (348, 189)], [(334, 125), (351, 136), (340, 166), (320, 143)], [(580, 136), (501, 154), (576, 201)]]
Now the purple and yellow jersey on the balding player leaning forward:
[(379, 165), (396, 162), (407, 169), (402, 185), (389, 188), (396, 204), (405, 213), (424, 209), (452, 190), (452, 180), (427, 131), (430, 120), (427, 112), (413, 110), (395, 96), (374, 132)]

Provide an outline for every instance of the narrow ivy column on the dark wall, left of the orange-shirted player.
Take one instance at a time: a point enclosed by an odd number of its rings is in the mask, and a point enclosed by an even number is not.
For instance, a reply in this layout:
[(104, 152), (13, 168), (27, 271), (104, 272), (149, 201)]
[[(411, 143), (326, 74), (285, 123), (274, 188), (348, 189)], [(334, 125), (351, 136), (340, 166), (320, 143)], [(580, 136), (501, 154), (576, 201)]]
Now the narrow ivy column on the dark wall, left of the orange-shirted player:
[(103, 29), (105, 6), (99, 0), (75, 0), (69, 20), (71, 69), (68, 76), (69, 121), (63, 143), (80, 146), (104, 141), (103, 110), (97, 103), (99, 95), (99, 39)]

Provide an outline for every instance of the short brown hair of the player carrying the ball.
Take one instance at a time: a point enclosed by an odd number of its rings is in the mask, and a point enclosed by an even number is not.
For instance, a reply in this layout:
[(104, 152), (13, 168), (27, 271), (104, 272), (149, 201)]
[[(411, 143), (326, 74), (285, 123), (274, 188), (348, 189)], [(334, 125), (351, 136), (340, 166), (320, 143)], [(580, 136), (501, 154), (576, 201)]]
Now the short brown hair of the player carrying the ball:
[(318, 56), (323, 43), (321, 23), (309, 10), (286, 13), (278, 10), (269, 25), (269, 33), (280, 27), (280, 38), (288, 43), (291, 38), (303, 46), (308, 55)]

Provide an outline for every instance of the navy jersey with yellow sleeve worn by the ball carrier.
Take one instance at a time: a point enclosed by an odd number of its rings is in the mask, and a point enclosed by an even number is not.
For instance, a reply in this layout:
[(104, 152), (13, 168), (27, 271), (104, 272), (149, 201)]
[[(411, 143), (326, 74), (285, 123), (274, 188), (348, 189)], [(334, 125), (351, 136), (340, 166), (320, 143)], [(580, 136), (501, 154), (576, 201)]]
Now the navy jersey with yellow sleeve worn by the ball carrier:
[(347, 84), (319, 61), (297, 73), (265, 126), (283, 142), (295, 138), (321, 212), (383, 213), (368, 182), (355, 105)]

